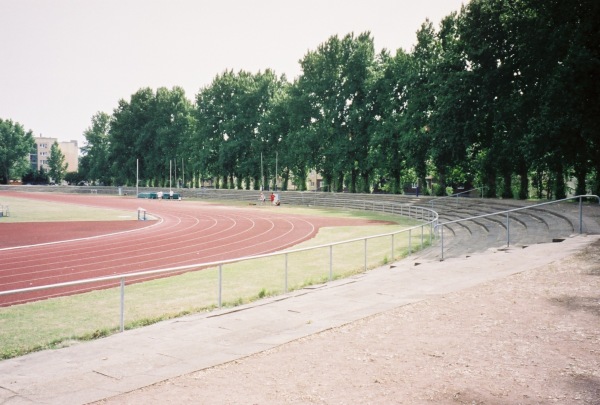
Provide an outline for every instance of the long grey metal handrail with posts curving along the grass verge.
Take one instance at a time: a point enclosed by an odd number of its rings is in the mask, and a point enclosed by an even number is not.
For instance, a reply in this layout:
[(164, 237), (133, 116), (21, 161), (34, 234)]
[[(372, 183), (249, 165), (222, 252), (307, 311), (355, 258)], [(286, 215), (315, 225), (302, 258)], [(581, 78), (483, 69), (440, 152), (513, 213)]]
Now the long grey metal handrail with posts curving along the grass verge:
[[(390, 202), (387, 203), (388, 205), (391, 204)], [(393, 205), (393, 204), (392, 204)], [(400, 208), (404, 208), (404, 205), (400, 205)], [(221, 292), (222, 292), (222, 283), (221, 283), (221, 271), (222, 271), (222, 266), (225, 264), (231, 264), (231, 263), (237, 263), (237, 262), (241, 262), (241, 261), (247, 261), (247, 260), (255, 260), (255, 259), (262, 259), (262, 258), (268, 258), (268, 257), (275, 257), (275, 256), (281, 256), (281, 255), (285, 255), (286, 256), (286, 274), (287, 274), (287, 255), (290, 253), (298, 253), (298, 252), (305, 252), (305, 251), (309, 251), (309, 250), (316, 250), (316, 249), (323, 249), (323, 248), (327, 248), (329, 247), (330, 249), (330, 274), (329, 274), (329, 279), (330, 281), (332, 280), (332, 271), (331, 271), (331, 249), (333, 248), (333, 246), (337, 246), (337, 245), (342, 245), (342, 244), (346, 244), (346, 243), (353, 243), (353, 242), (358, 242), (358, 241), (364, 241), (365, 242), (365, 271), (367, 270), (367, 249), (366, 249), (366, 243), (367, 240), (369, 239), (374, 239), (374, 238), (380, 238), (380, 237), (385, 237), (385, 236), (391, 236), (392, 237), (392, 255), (393, 255), (393, 238), (394, 235), (397, 234), (401, 234), (404, 232), (408, 232), (408, 239), (409, 239), (409, 254), (411, 253), (412, 250), (412, 246), (411, 246), (411, 232), (415, 229), (421, 228), (421, 245), (423, 245), (423, 233), (424, 233), (424, 227), (429, 225), (430, 226), (430, 232), (429, 232), (429, 236), (430, 236), (430, 241), (431, 241), (431, 237), (433, 235), (433, 228), (435, 227), (435, 225), (438, 222), (439, 216), (438, 213), (430, 210), (429, 208), (425, 208), (425, 207), (419, 207), (419, 206), (408, 206), (408, 212), (407, 212), (407, 216), (409, 218), (411, 217), (411, 214), (421, 214), (421, 220), (425, 219), (425, 215), (424, 213), (427, 212), (428, 213), (428, 219), (429, 221), (421, 224), (421, 225), (416, 225), (410, 228), (405, 228), (399, 231), (394, 231), (394, 232), (389, 232), (389, 233), (384, 233), (384, 234), (379, 234), (379, 235), (371, 235), (371, 236), (365, 236), (365, 237), (361, 237), (361, 238), (355, 238), (355, 239), (350, 239), (350, 240), (345, 240), (345, 241), (339, 241), (339, 242), (332, 242), (332, 243), (328, 243), (328, 244), (324, 244), (324, 245), (318, 245), (318, 246), (310, 246), (310, 247), (305, 247), (305, 248), (298, 248), (298, 249), (291, 249), (291, 250), (282, 250), (282, 251), (278, 251), (278, 252), (272, 252), (272, 253), (264, 253), (264, 254), (260, 254), (260, 255), (252, 255), (252, 256), (243, 256), (243, 257), (238, 257), (238, 258), (234, 258), (234, 259), (227, 259), (227, 260), (219, 260), (219, 261), (214, 261), (214, 262), (204, 262), (204, 263), (195, 263), (195, 264), (189, 264), (189, 265), (185, 265), (185, 266), (177, 266), (177, 267), (169, 267), (169, 268), (164, 268), (164, 269), (155, 269), (155, 270), (144, 270), (144, 271), (138, 271), (135, 273), (127, 273), (127, 274), (119, 274), (119, 275), (113, 275), (113, 276), (104, 276), (104, 277), (95, 277), (95, 278), (89, 278), (89, 279), (83, 279), (83, 280), (76, 280), (76, 281), (68, 281), (68, 282), (63, 282), (63, 283), (56, 283), (56, 284), (48, 284), (48, 285), (43, 285), (43, 286), (36, 286), (36, 287), (28, 287), (28, 288), (21, 288), (21, 289), (15, 289), (15, 290), (6, 290), (6, 291), (0, 291), (0, 297), (1, 296), (7, 296), (7, 295), (13, 295), (13, 294), (22, 294), (22, 293), (30, 293), (30, 292), (36, 292), (36, 291), (42, 291), (42, 290), (49, 290), (49, 289), (56, 289), (56, 288), (64, 288), (64, 287), (73, 287), (73, 286), (78, 286), (78, 285), (85, 285), (85, 284), (95, 284), (95, 283), (101, 283), (101, 282), (110, 282), (110, 281), (116, 281), (116, 280), (120, 280), (121, 282), (121, 311), (120, 311), (120, 316), (121, 316), (121, 332), (123, 332), (125, 330), (124, 328), (124, 300), (125, 300), (125, 280), (126, 279), (131, 279), (131, 278), (137, 278), (137, 277), (144, 277), (144, 276), (151, 276), (151, 275), (157, 275), (157, 274), (166, 274), (166, 273), (175, 273), (175, 272), (181, 272), (181, 271), (185, 271), (185, 270), (192, 270), (192, 269), (199, 269), (199, 268), (207, 268), (207, 267), (219, 267), (219, 307), (221, 307)], [(413, 209), (414, 208), (414, 209)], [(414, 211), (414, 212), (413, 212)], [(406, 211), (401, 211), (402, 216), (403, 213)], [(393, 256), (392, 256), (393, 257)], [(286, 277), (287, 280), (287, 277)], [(287, 292), (287, 284), (285, 286), (285, 290)]]

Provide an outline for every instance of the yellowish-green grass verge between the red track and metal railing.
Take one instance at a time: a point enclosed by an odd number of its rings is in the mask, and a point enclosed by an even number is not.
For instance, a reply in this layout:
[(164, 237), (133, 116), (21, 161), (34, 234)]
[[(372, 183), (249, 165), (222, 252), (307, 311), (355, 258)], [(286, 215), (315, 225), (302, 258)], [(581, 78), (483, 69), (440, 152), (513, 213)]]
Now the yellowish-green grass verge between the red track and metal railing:
[[(28, 215), (34, 208), (28, 208)], [(40, 209), (47, 208), (47, 204), (44, 204)], [(71, 208), (69, 210), (69, 217), (72, 217)], [(95, 209), (85, 210), (83, 207), (81, 214), (87, 220), (90, 216), (100, 220), (122, 215), (111, 210), (98, 210), (102, 212), (95, 213), (92, 212)], [(394, 222), (394, 225), (322, 228), (315, 238), (296, 248), (379, 235), (417, 224), (415, 221), (372, 212), (292, 207), (286, 210), (294, 214)], [(59, 212), (60, 209), (57, 209), (56, 218), (59, 218)], [(421, 236), (418, 232), (412, 234), (411, 244), (415, 250), (415, 247), (421, 246)], [(428, 237), (425, 239), (429, 240)], [(365, 262), (368, 268), (374, 268), (404, 257), (407, 246), (408, 234), (401, 233), (394, 237), (393, 247), (390, 236), (369, 239), (366, 254), (362, 240), (336, 245), (331, 251), (326, 247), (290, 253), (287, 255), (287, 274), (285, 255), (228, 264), (222, 268), (222, 304), (236, 306), (284, 293), (286, 280), (287, 290), (292, 291), (327, 282), (330, 271), (333, 279), (348, 277), (363, 272)], [(331, 269), (330, 254), (333, 257)], [(212, 268), (128, 285), (125, 289), (126, 328), (215, 309), (218, 305), (218, 279), (218, 269)], [(117, 288), (0, 308), (0, 359), (116, 333), (119, 330), (119, 314), (120, 292)]]

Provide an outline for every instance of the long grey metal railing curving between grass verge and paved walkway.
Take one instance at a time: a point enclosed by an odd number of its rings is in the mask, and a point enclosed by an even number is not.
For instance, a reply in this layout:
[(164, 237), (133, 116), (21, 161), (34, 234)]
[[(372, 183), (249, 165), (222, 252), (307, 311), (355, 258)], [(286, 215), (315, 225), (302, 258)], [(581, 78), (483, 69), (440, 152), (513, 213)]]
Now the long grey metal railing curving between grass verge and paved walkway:
[(292, 253), (307, 252), (307, 251), (313, 251), (313, 250), (317, 250), (317, 249), (328, 248), (329, 249), (329, 280), (331, 281), (333, 279), (333, 247), (334, 246), (349, 244), (349, 243), (356, 243), (356, 242), (362, 241), (364, 243), (364, 271), (367, 271), (368, 241), (371, 239), (390, 237), (391, 238), (392, 260), (394, 258), (394, 246), (395, 246), (394, 245), (394, 237), (395, 237), (395, 235), (408, 233), (408, 254), (409, 255), (413, 251), (413, 246), (412, 246), (413, 231), (418, 232), (420, 230), (420, 245), (421, 245), (421, 249), (422, 249), (425, 246), (425, 232), (426, 232), (425, 228), (429, 228), (428, 229), (429, 243), (430, 244), (432, 243), (432, 238), (434, 235), (434, 228), (438, 221), (437, 212), (430, 210), (428, 208), (424, 208), (424, 207), (409, 206), (409, 205), (404, 205), (404, 204), (393, 204), (390, 202), (387, 202), (387, 203), (368, 202), (368, 204), (365, 202), (363, 204), (363, 206), (365, 207), (365, 209), (372, 209), (373, 211), (377, 210), (377, 211), (382, 211), (382, 212), (393, 213), (396, 215), (401, 215), (401, 216), (405, 216), (405, 217), (409, 217), (409, 218), (412, 218), (415, 220), (420, 220), (420, 221), (425, 221), (425, 222), (420, 225), (402, 229), (400, 231), (389, 232), (389, 233), (384, 233), (384, 234), (379, 234), (379, 235), (371, 235), (371, 236), (366, 236), (366, 237), (362, 237), (362, 238), (345, 240), (345, 241), (341, 241), (341, 242), (334, 242), (334, 243), (329, 243), (329, 244), (324, 244), (324, 245), (319, 245), (319, 246), (311, 246), (311, 247), (306, 247), (306, 248), (283, 250), (283, 251), (274, 252), (274, 253), (267, 253), (267, 254), (254, 255), (254, 256), (245, 256), (245, 257), (239, 257), (239, 258), (235, 258), (235, 259), (228, 259), (228, 260), (221, 260), (221, 261), (214, 261), (214, 262), (196, 263), (196, 264), (191, 264), (191, 265), (169, 267), (169, 268), (164, 268), (164, 269), (146, 270), (146, 271), (140, 271), (140, 272), (128, 273), (128, 274), (120, 274), (120, 275), (114, 275), (114, 276), (95, 277), (95, 278), (89, 278), (89, 279), (83, 279), (83, 280), (77, 280), (77, 281), (49, 284), (49, 285), (44, 285), (44, 286), (29, 287), (29, 288), (22, 288), (22, 289), (16, 289), (16, 290), (0, 291), (0, 296), (7, 296), (7, 295), (13, 295), (13, 294), (24, 294), (24, 293), (43, 291), (43, 290), (74, 287), (74, 286), (89, 285), (89, 284), (96, 284), (96, 283), (106, 283), (106, 282), (118, 280), (120, 282), (120, 331), (123, 332), (125, 330), (125, 281), (128, 279), (132, 279), (132, 278), (139, 279), (140, 277), (150, 278), (152, 276), (166, 275), (169, 273), (175, 274), (175, 273), (181, 273), (181, 272), (190, 271), (190, 270), (200, 270), (200, 269), (218, 267), (218, 287), (217, 287), (218, 288), (218, 307), (221, 308), (222, 303), (223, 303), (222, 302), (223, 266), (227, 265), (227, 264), (239, 263), (242, 261), (249, 261), (249, 260), (255, 260), (255, 259), (270, 258), (270, 257), (276, 257), (276, 256), (284, 256), (284, 258), (285, 258), (285, 262), (284, 262), (285, 263), (284, 264), (284, 280), (285, 280), (284, 281), (284, 293), (287, 293), (288, 292), (288, 277), (287, 277), (287, 275), (288, 275), (288, 256)]

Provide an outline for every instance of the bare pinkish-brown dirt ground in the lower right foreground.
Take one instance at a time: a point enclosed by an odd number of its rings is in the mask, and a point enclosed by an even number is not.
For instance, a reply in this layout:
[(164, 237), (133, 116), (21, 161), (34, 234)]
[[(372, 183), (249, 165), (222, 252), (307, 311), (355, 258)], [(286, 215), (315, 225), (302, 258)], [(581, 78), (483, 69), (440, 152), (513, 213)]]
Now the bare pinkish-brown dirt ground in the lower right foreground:
[(600, 241), (101, 403), (600, 404)]

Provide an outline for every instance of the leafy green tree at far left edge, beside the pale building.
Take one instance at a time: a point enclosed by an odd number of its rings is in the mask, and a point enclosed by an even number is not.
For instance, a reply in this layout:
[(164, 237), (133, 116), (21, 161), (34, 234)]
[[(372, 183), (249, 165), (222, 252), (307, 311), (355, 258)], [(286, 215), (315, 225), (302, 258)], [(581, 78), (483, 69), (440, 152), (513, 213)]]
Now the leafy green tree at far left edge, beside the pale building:
[(20, 178), (29, 167), (29, 154), (35, 148), (31, 131), (12, 120), (0, 118), (0, 182)]

